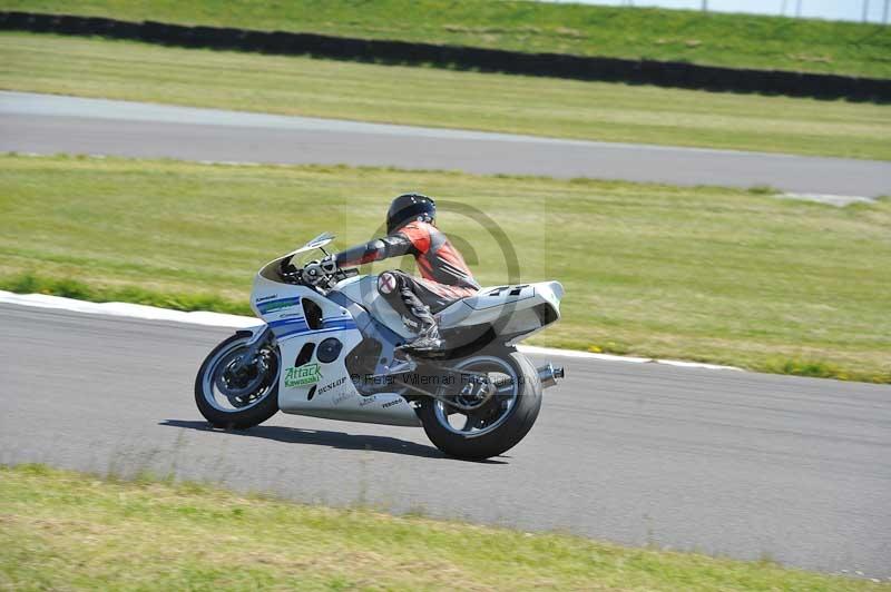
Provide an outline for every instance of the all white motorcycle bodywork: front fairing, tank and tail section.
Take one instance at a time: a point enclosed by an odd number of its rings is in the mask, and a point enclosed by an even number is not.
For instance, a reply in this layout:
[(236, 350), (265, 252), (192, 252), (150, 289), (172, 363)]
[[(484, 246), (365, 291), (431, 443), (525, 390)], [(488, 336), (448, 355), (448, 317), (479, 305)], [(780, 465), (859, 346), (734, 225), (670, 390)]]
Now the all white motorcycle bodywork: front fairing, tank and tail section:
[[(347, 354), (363, 341), (356, 319), (315, 289), (281, 282), (280, 260), (260, 270), (251, 295), (251, 307), (272, 328), (282, 356), (278, 407), (298, 415), (419, 426), (413, 407), (398, 393), (359, 394), (345, 363)], [(336, 289), (399, 336), (411, 337), (399, 313), (378, 293), (376, 284), (376, 276), (356, 276), (342, 280)], [(562, 286), (557, 282), (483, 288), (438, 316), (442, 328), (500, 319), (502, 330), (519, 341), (559, 318), (561, 296)], [(310, 303), (321, 310), (316, 318), (307, 318), (307, 306), (314, 308)], [(542, 316), (541, 305), (549, 307), (548, 315)], [(254, 329), (255, 336), (261, 332), (262, 327)], [(335, 338), (342, 347), (335, 357), (323, 362), (319, 359), (320, 344), (329, 338)], [(306, 344), (313, 344), (312, 355), (296, 366)]]

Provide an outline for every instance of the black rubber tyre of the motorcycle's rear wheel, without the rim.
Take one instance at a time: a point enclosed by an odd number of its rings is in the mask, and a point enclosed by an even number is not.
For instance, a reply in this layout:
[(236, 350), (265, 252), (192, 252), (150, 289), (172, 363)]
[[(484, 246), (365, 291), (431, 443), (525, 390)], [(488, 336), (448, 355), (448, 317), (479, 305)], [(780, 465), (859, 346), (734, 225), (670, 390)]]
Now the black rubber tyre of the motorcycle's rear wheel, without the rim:
[[(487, 356), (471, 356), (468, 361)], [(513, 349), (502, 351), (490, 358), (508, 364), (518, 378), (516, 399), (501, 423), (489, 432), (473, 434), (457, 433), (446, 427), (438, 417), (437, 406), (443, 403), (424, 397), (418, 414), (430, 441), (450, 456), (468, 461), (481, 461), (498, 456), (516, 446), (532, 428), (541, 408), (541, 382), (532, 363)]]

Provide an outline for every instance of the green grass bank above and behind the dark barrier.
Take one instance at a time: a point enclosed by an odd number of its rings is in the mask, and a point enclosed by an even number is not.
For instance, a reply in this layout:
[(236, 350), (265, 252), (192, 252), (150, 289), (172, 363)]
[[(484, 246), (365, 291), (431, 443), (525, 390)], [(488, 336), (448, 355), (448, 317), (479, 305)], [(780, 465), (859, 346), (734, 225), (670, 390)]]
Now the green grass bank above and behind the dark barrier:
[(0, 9), (891, 77), (880, 24), (488, 0), (0, 0)]

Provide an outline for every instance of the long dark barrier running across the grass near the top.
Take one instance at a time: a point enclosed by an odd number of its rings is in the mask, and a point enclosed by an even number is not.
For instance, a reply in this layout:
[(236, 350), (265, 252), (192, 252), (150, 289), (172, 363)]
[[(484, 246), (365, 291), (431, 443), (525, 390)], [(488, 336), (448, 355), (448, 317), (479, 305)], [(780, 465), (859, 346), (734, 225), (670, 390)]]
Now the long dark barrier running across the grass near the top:
[(891, 101), (891, 79), (779, 70), (697, 66), (676, 61), (628, 60), (523, 53), (432, 43), (351, 39), (313, 33), (186, 27), (164, 22), (0, 11), (0, 30), (100, 36), (212, 49), (310, 55), (320, 58), (472, 69), (486, 72), (600, 80), (724, 92), (758, 92), (821, 99)]

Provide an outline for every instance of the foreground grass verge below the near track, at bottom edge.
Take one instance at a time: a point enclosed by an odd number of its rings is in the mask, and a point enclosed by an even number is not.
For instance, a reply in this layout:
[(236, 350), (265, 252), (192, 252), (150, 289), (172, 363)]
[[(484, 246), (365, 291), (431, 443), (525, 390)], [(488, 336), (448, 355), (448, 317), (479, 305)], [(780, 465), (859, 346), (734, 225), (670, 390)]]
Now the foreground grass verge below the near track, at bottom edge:
[(14, 590), (800, 590), (888, 584), (192, 483), (0, 467)]

